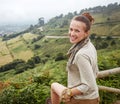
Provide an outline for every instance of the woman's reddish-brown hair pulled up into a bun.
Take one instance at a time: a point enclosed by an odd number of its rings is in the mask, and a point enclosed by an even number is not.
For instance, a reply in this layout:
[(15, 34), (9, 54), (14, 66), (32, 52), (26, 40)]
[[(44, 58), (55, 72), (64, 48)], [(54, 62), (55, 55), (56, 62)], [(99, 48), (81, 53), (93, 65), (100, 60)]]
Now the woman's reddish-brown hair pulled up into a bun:
[(86, 24), (85, 31), (90, 30), (92, 23), (94, 22), (94, 18), (90, 15), (90, 13), (83, 13), (82, 15), (75, 16), (73, 20), (81, 21)]

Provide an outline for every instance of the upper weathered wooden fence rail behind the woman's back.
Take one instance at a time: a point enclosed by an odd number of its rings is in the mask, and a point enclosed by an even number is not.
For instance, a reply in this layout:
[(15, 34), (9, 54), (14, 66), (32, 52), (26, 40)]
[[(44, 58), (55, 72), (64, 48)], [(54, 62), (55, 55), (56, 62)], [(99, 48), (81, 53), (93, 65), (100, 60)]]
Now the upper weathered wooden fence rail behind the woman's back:
[(98, 73), (97, 78), (103, 78), (103, 77), (107, 77), (107, 76), (109, 76), (109, 75), (117, 74), (117, 73), (120, 73), (120, 67), (114, 68), (114, 69), (109, 69), (109, 70), (100, 71), (100, 72)]

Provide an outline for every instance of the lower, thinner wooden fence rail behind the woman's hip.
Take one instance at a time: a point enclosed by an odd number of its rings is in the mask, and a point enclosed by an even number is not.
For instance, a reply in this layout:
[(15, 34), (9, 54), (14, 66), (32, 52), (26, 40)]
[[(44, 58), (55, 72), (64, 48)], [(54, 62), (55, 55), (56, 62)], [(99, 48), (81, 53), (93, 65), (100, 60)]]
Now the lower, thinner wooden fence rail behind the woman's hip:
[(120, 89), (98, 85), (99, 90), (120, 94)]

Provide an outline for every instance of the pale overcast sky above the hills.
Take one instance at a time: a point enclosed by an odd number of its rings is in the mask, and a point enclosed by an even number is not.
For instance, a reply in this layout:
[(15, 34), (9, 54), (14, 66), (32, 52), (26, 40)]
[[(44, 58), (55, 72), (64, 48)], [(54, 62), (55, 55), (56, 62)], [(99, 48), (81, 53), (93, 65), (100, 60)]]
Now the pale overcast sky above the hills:
[(40, 17), (47, 22), (60, 14), (115, 2), (120, 4), (120, 0), (0, 0), (0, 25), (35, 24)]

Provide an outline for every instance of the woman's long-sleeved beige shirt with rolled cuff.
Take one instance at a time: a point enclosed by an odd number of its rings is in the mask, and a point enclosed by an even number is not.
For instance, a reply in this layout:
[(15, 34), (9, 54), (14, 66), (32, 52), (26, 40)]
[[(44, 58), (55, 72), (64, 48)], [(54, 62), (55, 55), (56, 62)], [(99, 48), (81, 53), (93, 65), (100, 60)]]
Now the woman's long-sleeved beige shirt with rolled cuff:
[(99, 96), (96, 84), (97, 53), (90, 41), (76, 53), (73, 63), (67, 64), (67, 71), (68, 87), (77, 87), (83, 93), (74, 96), (75, 99), (94, 99)]

